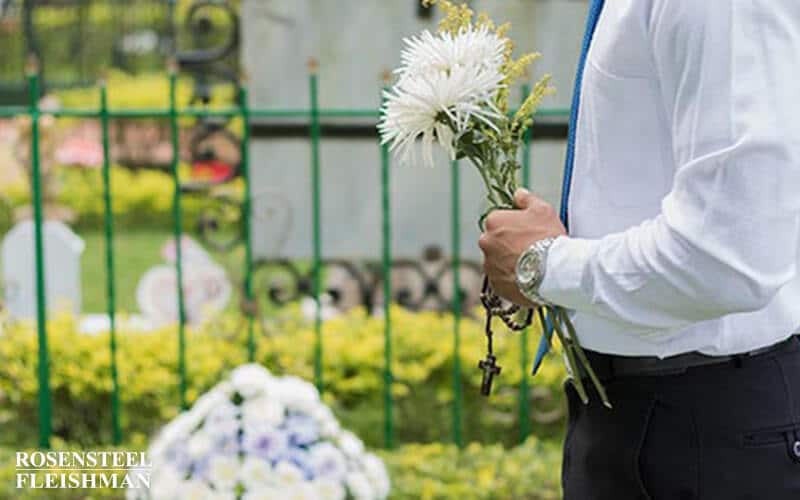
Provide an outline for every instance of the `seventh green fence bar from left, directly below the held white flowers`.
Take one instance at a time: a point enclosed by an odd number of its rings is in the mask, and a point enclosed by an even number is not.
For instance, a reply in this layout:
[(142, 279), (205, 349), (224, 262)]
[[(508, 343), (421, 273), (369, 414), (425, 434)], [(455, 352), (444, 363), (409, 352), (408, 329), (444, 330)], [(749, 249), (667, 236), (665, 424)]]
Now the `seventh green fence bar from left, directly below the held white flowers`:
[(453, 273), (453, 441), (462, 447), (461, 436), (461, 179), (458, 160), (451, 168), (451, 237)]

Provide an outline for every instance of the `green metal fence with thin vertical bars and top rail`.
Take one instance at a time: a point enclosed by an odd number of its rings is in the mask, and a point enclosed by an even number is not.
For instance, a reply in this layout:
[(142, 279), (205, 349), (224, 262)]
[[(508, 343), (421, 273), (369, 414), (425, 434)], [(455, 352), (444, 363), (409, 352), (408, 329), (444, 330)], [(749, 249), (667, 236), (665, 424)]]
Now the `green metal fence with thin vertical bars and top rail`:
[[(117, 377), (117, 353), (116, 353), (116, 335), (117, 324), (115, 321), (116, 316), (116, 284), (115, 284), (115, 259), (114, 259), (114, 221), (112, 217), (112, 193), (111, 185), (111, 162), (110, 162), (110, 148), (109, 148), (109, 123), (112, 119), (132, 119), (132, 118), (160, 118), (168, 120), (171, 130), (172, 139), (172, 161), (171, 172), (174, 181), (174, 195), (172, 200), (173, 217), (174, 217), (174, 235), (176, 246), (176, 259), (175, 268), (177, 274), (177, 296), (178, 296), (178, 387), (180, 394), (180, 403), (182, 407), (186, 408), (188, 401), (186, 400), (187, 391), (187, 363), (191, 362), (186, 359), (186, 312), (184, 304), (183, 293), (183, 260), (181, 251), (181, 238), (183, 232), (183, 221), (181, 213), (181, 179), (179, 175), (179, 125), (178, 121), (182, 117), (240, 117), (243, 121), (243, 133), (241, 136), (241, 175), (244, 180), (244, 245), (245, 245), (245, 258), (242, 263), (244, 269), (244, 295), (245, 300), (252, 304), (254, 300), (253, 292), (253, 254), (250, 238), (250, 208), (251, 208), (251, 189), (250, 189), (250, 176), (249, 176), (249, 149), (250, 149), (250, 124), (253, 118), (270, 117), (270, 118), (306, 118), (310, 125), (309, 142), (311, 147), (311, 214), (312, 220), (311, 228), (312, 234), (310, 235), (310, 242), (312, 245), (312, 278), (313, 286), (312, 293), (314, 299), (319, 304), (321, 293), (321, 267), (322, 267), (322, 246), (321, 239), (321, 211), (320, 211), (320, 195), (322, 186), (320, 183), (320, 142), (322, 140), (320, 133), (320, 121), (322, 118), (373, 118), (379, 117), (378, 109), (322, 109), (318, 102), (318, 75), (316, 65), (310, 65), (309, 71), (309, 101), (310, 107), (308, 110), (301, 109), (253, 109), (248, 105), (247, 89), (242, 86), (240, 101), (237, 106), (229, 109), (207, 109), (207, 108), (179, 108), (176, 104), (176, 82), (177, 76), (174, 71), (170, 71), (169, 75), (169, 107), (165, 109), (109, 109), (107, 90), (103, 83), (100, 84), (100, 98), (98, 107), (94, 109), (59, 109), (56, 111), (48, 111), (48, 114), (55, 117), (71, 117), (71, 118), (87, 118), (96, 119), (99, 121), (102, 129), (102, 150), (103, 150), (103, 164), (102, 164), (102, 179), (104, 186), (104, 231), (105, 231), (105, 245), (106, 245), (106, 293), (108, 303), (108, 315), (110, 318), (110, 373), (109, 376), (112, 380), (112, 399), (111, 399), (111, 412), (113, 422), (113, 440), (114, 444), (119, 444), (122, 441), (122, 433), (120, 429), (120, 385)], [(30, 72), (28, 78), (29, 95), (32, 96), (28, 107), (0, 107), (0, 118), (9, 118), (14, 116), (26, 115), (32, 119), (32, 140), (31, 140), (31, 171), (32, 171), (32, 203), (33, 203), (33, 218), (34, 218), (34, 252), (35, 252), (35, 281), (36, 281), (36, 319), (37, 319), (37, 336), (38, 336), (38, 383), (39, 383), (39, 444), (43, 448), (50, 446), (51, 437), (51, 394), (49, 387), (49, 353), (47, 348), (47, 303), (45, 295), (45, 282), (47, 276), (44, 269), (44, 240), (43, 240), (43, 206), (42, 206), (42, 186), (41, 186), (41, 172), (40, 172), (40, 157), (39, 157), (39, 124), (38, 118), (40, 117), (40, 109), (38, 101), (34, 96), (39, 95), (40, 77), (37, 72)], [(376, 88), (376, 95), (377, 95)], [(523, 95), (527, 95), (527, 88), (523, 88)], [(544, 110), (539, 113), (539, 116), (557, 116), (564, 117), (567, 115), (566, 110)], [(526, 185), (530, 184), (530, 166), (531, 166), (531, 134), (528, 133), (525, 137), (525, 145), (523, 148), (523, 182)], [(392, 316), (389, 307), (391, 297), (391, 218), (390, 218), (390, 155), (385, 146), (380, 146), (380, 159), (381, 159), (381, 228), (382, 228), (382, 274), (383, 274), (383, 292), (384, 297), (384, 368), (383, 368), (383, 385), (384, 385), (384, 442), (386, 447), (394, 446), (394, 431), (393, 431), (393, 398), (391, 392), (393, 371), (392, 371)], [(459, 216), (461, 211), (461, 200), (459, 192), (459, 165), (458, 162), (453, 162), (451, 165), (451, 231), (452, 231), (452, 275), (453, 275), (453, 289), (460, 290), (459, 270), (461, 264), (461, 252), (459, 242), (461, 239), (459, 231)], [(462, 387), (460, 384), (461, 370), (460, 357), (458, 355), (460, 350), (460, 325), (461, 325), (461, 294), (454, 293), (452, 298), (452, 311), (454, 315), (453, 322), (453, 351), (454, 364), (453, 364), (453, 406), (452, 406), (452, 440), (459, 446), (463, 445), (462, 439)], [(254, 307), (243, 307), (243, 314), (248, 319), (248, 335), (247, 345), (243, 348), (247, 349), (248, 359), (255, 359), (256, 339), (254, 336)], [(316, 308), (316, 317), (314, 320), (315, 330), (315, 345), (314, 345), (314, 374), (315, 383), (320, 391), (324, 391), (324, 380), (322, 378), (323, 368), (323, 335), (322, 335), (322, 318), (321, 308)], [(523, 332), (520, 336), (520, 359), (519, 362), (522, 366), (523, 373), (528, 370), (529, 353), (528, 353), (528, 333)], [(528, 433), (528, 416), (530, 414), (530, 401), (528, 382), (523, 377), (522, 383), (519, 388), (519, 421), (520, 421), (520, 436), (524, 439)]]

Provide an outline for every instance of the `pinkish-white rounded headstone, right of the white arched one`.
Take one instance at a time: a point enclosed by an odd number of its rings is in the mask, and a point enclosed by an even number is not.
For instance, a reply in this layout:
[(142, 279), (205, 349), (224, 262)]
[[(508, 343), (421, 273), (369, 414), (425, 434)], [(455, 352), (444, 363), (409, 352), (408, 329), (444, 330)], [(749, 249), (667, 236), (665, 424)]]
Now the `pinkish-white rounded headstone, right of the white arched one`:
[[(136, 288), (139, 309), (153, 325), (178, 320), (174, 240), (164, 245), (161, 255), (168, 264), (150, 268)], [(188, 236), (181, 238), (181, 257), (186, 320), (200, 324), (225, 308), (233, 288), (225, 270)]]

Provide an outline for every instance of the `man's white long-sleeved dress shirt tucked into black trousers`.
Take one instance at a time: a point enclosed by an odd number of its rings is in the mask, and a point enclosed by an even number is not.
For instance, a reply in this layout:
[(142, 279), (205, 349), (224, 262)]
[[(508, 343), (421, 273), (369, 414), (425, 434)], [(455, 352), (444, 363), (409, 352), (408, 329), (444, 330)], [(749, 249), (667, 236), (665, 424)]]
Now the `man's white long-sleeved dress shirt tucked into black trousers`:
[(540, 293), (587, 349), (742, 353), (800, 327), (800, 0), (606, 0), (570, 237)]

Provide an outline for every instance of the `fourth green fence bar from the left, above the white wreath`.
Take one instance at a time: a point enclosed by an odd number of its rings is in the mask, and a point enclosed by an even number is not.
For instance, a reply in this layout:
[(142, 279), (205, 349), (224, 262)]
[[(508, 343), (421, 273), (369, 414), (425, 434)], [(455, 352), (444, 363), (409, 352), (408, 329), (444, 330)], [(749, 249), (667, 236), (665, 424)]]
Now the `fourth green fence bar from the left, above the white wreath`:
[(244, 179), (244, 295), (247, 307), (247, 359), (252, 363), (256, 358), (256, 341), (253, 321), (256, 304), (253, 297), (253, 242), (251, 239), (252, 193), (250, 192), (250, 108), (247, 99), (247, 86), (239, 87), (239, 108), (242, 116), (241, 171)]

